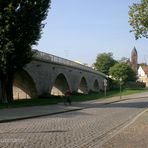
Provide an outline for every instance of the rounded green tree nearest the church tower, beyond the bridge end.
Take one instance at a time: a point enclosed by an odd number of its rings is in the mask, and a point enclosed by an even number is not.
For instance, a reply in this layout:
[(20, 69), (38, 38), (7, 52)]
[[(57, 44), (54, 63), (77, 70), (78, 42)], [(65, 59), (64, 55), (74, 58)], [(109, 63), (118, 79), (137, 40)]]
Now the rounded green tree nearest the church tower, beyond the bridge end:
[(136, 73), (132, 70), (130, 65), (124, 62), (117, 63), (111, 67), (109, 74), (117, 81), (121, 79), (123, 83), (136, 80)]

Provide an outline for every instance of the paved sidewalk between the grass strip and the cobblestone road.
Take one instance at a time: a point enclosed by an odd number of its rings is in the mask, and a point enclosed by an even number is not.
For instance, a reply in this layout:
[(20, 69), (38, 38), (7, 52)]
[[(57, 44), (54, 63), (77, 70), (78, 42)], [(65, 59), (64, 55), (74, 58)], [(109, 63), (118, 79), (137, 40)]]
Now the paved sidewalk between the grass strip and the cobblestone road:
[(8, 121), (14, 121), (14, 120), (59, 114), (63, 112), (89, 108), (92, 106), (101, 106), (108, 103), (113, 103), (113, 102), (122, 101), (126, 99), (135, 99), (135, 98), (142, 98), (142, 97), (148, 97), (148, 92), (122, 96), (121, 99), (118, 96), (118, 97), (98, 99), (98, 100), (85, 101), (85, 102), (73, 102), (71, 106), (65, 106), (63, 103), (59, 103), (56, 105), (0, 109), (0, 122), (8, 122)]

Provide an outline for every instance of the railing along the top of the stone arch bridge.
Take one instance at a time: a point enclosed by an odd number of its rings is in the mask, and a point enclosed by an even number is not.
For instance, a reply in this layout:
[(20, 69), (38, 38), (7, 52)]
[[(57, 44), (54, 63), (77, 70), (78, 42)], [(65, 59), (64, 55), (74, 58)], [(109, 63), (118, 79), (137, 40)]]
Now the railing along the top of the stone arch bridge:
[(97, 74), (100, 74), (104, 77), (107, 77), (105, 74), (103, 74), (103, 73), (101, 73), (97, 70), (94, 70), (91, 67), (88, 67), (88, 66), (79, 64), (77, 62), (74, 62), (74, 61), (71, 61), (71, 60), (68, 60), (68, 59), (64, 59), (64, 58), (61, 58), (61, 57), (58, 57), (58, 56), (55, 56), (55, 55), (52, 55), (52, 54), (41, 52), (41, 51), (38, 51), (38, 50), (35, 50), (35, 55), (34, 55), (33, 58), (48, 61), (48, 62), (63, 64), (63, 65), (67, 65), (67, 66), (72, 66), (72, 67), (75, 67), (75, 68), (91, 71), (93, 73), (97, 73)]

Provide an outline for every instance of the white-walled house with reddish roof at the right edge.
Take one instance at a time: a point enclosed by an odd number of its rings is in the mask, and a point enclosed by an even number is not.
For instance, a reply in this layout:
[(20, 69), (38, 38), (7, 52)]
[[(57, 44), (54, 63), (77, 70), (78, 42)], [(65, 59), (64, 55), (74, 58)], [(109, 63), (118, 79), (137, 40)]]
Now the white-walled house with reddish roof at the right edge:
[(148, 87), (148, 66), (140, 66), (138, 68), (138, 81), (144, 82)]

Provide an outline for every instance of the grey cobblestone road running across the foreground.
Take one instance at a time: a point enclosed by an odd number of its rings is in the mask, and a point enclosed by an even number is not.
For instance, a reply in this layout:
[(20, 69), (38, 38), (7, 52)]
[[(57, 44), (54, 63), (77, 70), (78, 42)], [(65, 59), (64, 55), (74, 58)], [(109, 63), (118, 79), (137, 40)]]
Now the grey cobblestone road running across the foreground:
[(0, 148), (99, 148), (147, 107), (140, 98), (0, 123)]

